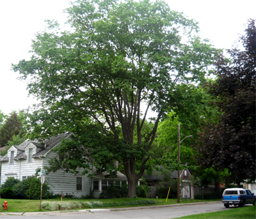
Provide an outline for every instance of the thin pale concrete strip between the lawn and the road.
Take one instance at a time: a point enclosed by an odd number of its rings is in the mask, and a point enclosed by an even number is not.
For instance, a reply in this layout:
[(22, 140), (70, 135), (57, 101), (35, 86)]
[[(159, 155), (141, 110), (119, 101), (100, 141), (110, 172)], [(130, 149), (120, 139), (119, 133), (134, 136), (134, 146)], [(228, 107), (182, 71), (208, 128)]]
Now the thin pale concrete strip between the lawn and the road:
[(138, 207), (131, 207), (131, 208), (108, 208), (108, 209), (83, 209), (83, 210), (67, 210), (67, 211), (37, 211), (37, 212), (1, 212), (1, 215), (74, 215), (74, 214), (84, 214), (96, 211), (129, 211), (129, 210), (136, 210), (136, 209), (150, 209), (150, 208), (172, 208), (177, 206), (192, 206), (198, 204), (211, 204), (211, 203), (218, 203), (220, 201), (214, 202), (195, 202), (195, 203), (182, 203), (182, 204), (165, 204), (159, 206), (138, 206)]

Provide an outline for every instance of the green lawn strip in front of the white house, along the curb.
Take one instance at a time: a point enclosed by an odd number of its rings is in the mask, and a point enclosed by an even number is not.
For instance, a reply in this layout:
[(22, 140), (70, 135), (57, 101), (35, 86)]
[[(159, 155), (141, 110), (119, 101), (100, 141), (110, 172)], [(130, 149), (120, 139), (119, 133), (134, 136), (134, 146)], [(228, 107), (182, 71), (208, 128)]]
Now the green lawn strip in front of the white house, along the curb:
[[(8, 201), (8, 207), (6, 212), (33, 212), (33, 211), (40, 211), (40, 200), (28, 200), (28, 199), (0, 199), (0, 211), (3, 211), (2, 205), (4, 204), (4, 200)], [(132, 202), (136, 200), (145, 200), (145, 198), (124, 198), (124, 199), (69, 199), (63, 198), (62, 202), (95, 202), (100, 201), (102, 203), (121, 203), (121, 202)], [(178, 204), (177, 199), (150, 199), (155, 200), (156, 204), (154, 205), (164, 205), (164, 204)], [(220, 199), (217, 199), (220, 200)], [(60, 198), (56, 199), (44, 199), (43, 201), (47, 202), (60, 202)], [(195, 199), (180, 199), (180, 203), (194, 203), (194, 202), (206, 202), (206, 201), (216, 201), (215, 200), (195, 200)], [(125, 207), (132, 207), (132, 206), (118, 206), (117, 208), (125, 208)], [(106, 207), (104, 207), (106, 208)], [(113, 208), (113, 207), (109, 207)], [(83, 208), (81, 208), (83, 209)], [(87, 209), (87, 208), (86, 208)], [(44, 208), (41, 208), (42, 211), (49, 211)], [(75, 209), (74, 209), (75, 210)]]

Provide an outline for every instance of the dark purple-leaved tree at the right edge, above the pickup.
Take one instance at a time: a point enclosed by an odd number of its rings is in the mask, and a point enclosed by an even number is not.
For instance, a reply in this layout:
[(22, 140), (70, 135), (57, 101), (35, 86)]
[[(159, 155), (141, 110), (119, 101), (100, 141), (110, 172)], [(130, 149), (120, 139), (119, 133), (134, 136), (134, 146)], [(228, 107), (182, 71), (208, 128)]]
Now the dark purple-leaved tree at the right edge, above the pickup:
[(248, 21), (241, 36), (244, 50), (228, 50), (230, 63), (220, 56), (216, 62), (216, 83), (209, 92), (216, 96), (221, 112), (218, 124), (208, 124), (200, 133), (197, 149), (204, 167), (230, 172), (230, 181), (255, 180), (255, 79), (256, 27)]

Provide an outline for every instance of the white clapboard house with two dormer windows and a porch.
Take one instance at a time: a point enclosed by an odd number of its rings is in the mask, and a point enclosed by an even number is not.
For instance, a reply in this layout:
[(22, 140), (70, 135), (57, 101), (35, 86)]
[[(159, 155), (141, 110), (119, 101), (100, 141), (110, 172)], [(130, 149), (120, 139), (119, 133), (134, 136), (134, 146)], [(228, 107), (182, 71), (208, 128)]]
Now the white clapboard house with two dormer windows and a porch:
[[(36, 169), (44, 169), (49, 165), (50, 158), (57, 157), (57, 153), (51, 151), (58, 147), (63, 139), (71, 139), (73, 133), (67, 132), (62, 135), (51, 137), (44, 140), (41, 144), (38, 140), (25, 140), (19, 146), (12, 146), (8, 153), (0, 158), (1, 165), (1, 185), (8, 177), (15, 177), (22, 181), (27, 177), (35, 176)], [(92, 165), (91, 165), (92, 167)], [(82, 172), (82, 171), (81, 171)], [(96, 172), (95, 168), (90, 170), (89, 174)], [(91, 191), (95, 198), (99, 197), (100, 192), (107, 186), (114, 183), (122, 185), (127, 183), (127, 178), (121, 172), (117, 173), (115, 178), (106, 178), (106, 174), (94, 174), (93, 177), (87, 175), (71, 174), (61, 170), (51, 172), (45, 176), (45, 181), (54, 194), (70, 194), (76, 197), (90, 195)]]

